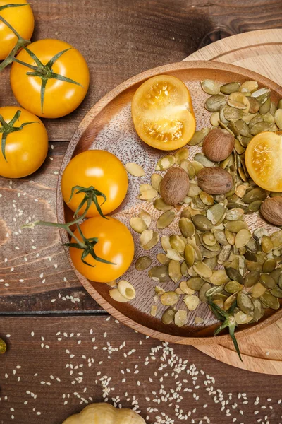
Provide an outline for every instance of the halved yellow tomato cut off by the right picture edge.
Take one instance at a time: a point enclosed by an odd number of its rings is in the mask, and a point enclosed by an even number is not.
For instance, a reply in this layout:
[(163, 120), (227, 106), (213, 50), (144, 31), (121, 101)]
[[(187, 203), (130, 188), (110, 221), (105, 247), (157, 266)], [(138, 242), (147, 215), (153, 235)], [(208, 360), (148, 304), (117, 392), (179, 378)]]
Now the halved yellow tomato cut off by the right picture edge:
[(247, 172), (259, 187), (282, 191), (282, 136), (274, 132), (257, 134), (245, 151)]

